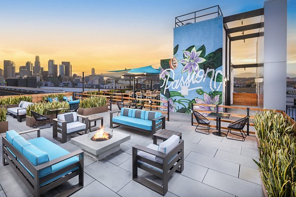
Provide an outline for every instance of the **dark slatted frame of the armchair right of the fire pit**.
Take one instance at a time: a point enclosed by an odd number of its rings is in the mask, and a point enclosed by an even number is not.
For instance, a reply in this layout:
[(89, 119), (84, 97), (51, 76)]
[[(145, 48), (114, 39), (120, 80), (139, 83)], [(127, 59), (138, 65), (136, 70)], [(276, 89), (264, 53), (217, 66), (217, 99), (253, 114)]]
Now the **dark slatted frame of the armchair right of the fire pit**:
[[(154, 137), (156, 139), (162, 139), (162, 140), (166, 140), (169, 138), (169, 136), (158, 134), (158, 133), (155, 133)], [(151, 160), (148, 160), (146, 158), (139, 156), (138, 151), (144, 151), (144, 152), (149, 153), (151, 155), (155, 155), (155, 156), (163, 158), (163, 164), (153, 162)], [(154, 192), (157, 192), (158, 194), (160, 194), (162, 196), (164, 196), (168, 192), (168, 180), (173, 175), (173, 173), (175, 171), (182, 173), (184, 170), (184, 140), (182, 140), (182, 139), (180, 139), (179, 145), (168, 154), (161, 153), (161, 152), (149, 149), (149, 148), (147, 148), (145, 146), (141, 146), (141, 145), (133, 146), (132, 153), (133, 153), (133, 157), (132, 157), (133, 180), (144, 185), (145, 187), (153, 190)], [(171, 158), (174, 157), (175, 154), (178, 154), (178, 155), (169, 163), (169, 161), (171, 160)], [(155, 169), (147, 167), (146, 165), (140, 164), (140, 163), (138, 163), (138, 161), (142, 161), (147, 164), (158, 167), (158, 168), (162, 169), (163, 172), (161, 173)], [(162, 185), (159, 186), (156, 183), (153, 183), (144, 177), (138, 177), (138, 168), (141, 168), (141, 169), (161, 178)]]

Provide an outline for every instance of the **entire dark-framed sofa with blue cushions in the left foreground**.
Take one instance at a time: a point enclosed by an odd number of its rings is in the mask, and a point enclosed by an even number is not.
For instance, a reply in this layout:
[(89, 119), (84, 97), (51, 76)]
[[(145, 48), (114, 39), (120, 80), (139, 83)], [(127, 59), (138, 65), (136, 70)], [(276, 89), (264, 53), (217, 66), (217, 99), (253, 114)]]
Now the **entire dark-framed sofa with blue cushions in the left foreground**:
[[(26, 140), (20, 134), (37, 132), (37, 138)], [(78, 156), (78, 157), (77, 157)], [(83, 187), (82, 150), (72, 153), (40, 137), (40, 130), (17, 133), (6, 131), (2, 136), (2, 163), (9, 164), (34, 197), (78, 176), (79, 182), (64, 191), (61, 196), (70, 196)]]

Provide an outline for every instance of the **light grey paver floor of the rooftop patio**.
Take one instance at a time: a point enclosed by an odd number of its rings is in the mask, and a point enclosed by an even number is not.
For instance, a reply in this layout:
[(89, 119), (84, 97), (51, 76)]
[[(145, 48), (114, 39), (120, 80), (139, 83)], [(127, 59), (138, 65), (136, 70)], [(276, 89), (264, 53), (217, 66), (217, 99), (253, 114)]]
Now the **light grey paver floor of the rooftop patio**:
[[(112, 111), (117, 106), (112, 106)], [(110, 112), (100, 113), (104, 116), (104, 125), (109, 127)], [(9, 130), (17, 132), (30, 130), (26, 122), (17, 122), (11, 116), (7, 117)], [(170, 121), (166, 121), (166, 129), (182, 132), (185, 140), (185, 167), (182, 173), (174, 173), (169, 179), (166, 197), (191, 196), (225, 196), (225, 197), (261, 197), (263, 196), (260, 173), (253, 159), (258, 160), (258, 148), (255, 136), (247, 136), (246, 141), (234, 141), (212, 134), (205, 135), (195, 132), (191, 126), (190, 114), (171, 113)], [(140, 144), (147, 146), (152, 143), (151, 136), (135, 130), (118, 127), (113, 130), (131, 135), (131, 139), (120, 145), (120, 151), (108, 156), (104, 160), (96, 161), (84, 155), (84, 187), (73, 196), (92, 197), (102, 196), (149, 196), (159, 194), (132, 180), (132, 146)], [(77, 136), (78, 134), (73, 134)], [(22, 134), (26, 139), (35, 138), (37, 134)], [(52, 138), (52, 127), (41, 129), (41, 136), (72, 152), (79, 149), (68, 142), (61, 144)], [(2, 152), (1, 152), (2, 154)], [(139, 169), (140, 176), (149, 177), (158, 182), (147, 172)], [(67, 184), (47, 192), (43, 196), (56, 196), (71, 184), (76, 184), (77, 178)], [(31, 193), (19, 179), (12, 167), (0, 164), (0, 196), (29, 197)]]

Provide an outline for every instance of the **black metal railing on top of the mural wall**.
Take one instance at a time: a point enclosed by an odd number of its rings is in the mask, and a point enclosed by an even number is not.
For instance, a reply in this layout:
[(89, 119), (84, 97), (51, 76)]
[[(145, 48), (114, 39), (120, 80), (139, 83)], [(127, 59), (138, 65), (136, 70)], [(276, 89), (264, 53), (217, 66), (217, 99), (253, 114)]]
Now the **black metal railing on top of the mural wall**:
[(216, 15), (223, 16), (219, 5), (197, 10), (188, 14), (175, 17), (175, 28), (186, 25), (187, 23), (199, 22), (202, 17)]

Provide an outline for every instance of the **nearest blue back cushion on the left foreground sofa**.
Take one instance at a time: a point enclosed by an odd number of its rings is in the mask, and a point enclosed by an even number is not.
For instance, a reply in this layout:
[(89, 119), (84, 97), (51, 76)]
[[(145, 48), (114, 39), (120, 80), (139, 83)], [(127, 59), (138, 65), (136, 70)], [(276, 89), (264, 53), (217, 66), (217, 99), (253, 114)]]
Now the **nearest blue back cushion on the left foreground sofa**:
[[(49, 161), (48, 154), (34, 146), (33, 144), (23, 147), (23, 155), (27, 158), (33, 165), (44, 164)], [(28, 169), (27, 169), (28, 170)], [(28, 172), (30, 172), (28, 170)], [(46, 167), (39, 172), (39, 176), (43, 177), (52, 172), (50, 167)], [(33, 174), (30, 172), (33, 176)]]

